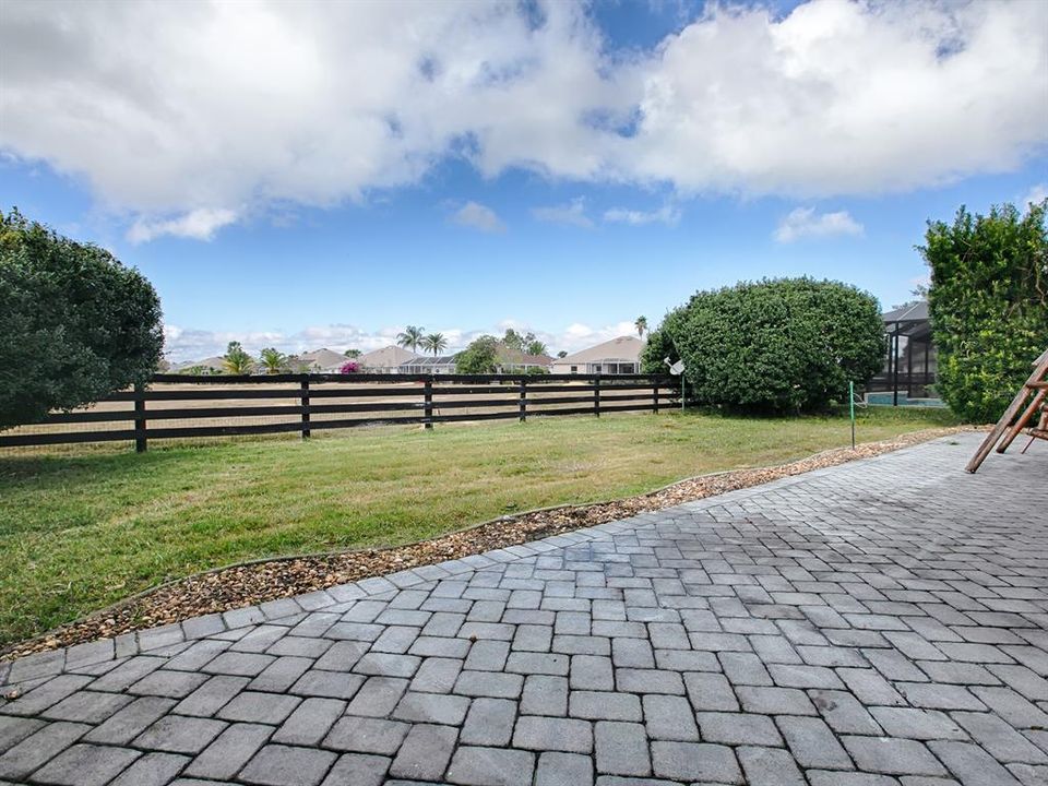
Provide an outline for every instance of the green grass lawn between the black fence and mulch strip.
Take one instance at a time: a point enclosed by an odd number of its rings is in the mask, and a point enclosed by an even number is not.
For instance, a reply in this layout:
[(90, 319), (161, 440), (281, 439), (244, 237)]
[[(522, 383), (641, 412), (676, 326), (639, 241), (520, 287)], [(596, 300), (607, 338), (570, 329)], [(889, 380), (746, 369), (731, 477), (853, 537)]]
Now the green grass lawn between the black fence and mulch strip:
[[(933, 409), (860, 418), (859, 441), (954, 422)], [(674, 413), (383, 427), (142, 455), (0, 453), (0, 644), (230, 562), (398, 545), (848, 442), (844, 417)]]

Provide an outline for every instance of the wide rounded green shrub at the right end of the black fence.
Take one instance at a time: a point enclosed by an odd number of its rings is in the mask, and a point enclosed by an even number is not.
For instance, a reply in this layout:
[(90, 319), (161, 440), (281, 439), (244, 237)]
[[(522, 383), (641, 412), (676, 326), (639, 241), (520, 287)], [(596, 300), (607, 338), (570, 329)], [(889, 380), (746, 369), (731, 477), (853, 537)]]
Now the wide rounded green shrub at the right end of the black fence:
[(884, 358), (877, 299), (856, 287), (811, 278), (743, 282), (701, 291), (651, 334), (645, 370), (684, 361), (701, 404), (782, 414), (847, 398)]

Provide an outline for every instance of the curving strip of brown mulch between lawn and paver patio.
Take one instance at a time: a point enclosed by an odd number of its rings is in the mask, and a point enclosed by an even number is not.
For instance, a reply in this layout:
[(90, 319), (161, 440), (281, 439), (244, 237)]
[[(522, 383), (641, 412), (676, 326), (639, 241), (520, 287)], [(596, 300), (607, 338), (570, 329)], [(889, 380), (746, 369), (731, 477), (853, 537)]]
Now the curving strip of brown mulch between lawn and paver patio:
[(219, 568), (150, 590), (41, 636), (8, 646), (0, 652), (0, 659), (9, 660), (32, 653), (179, 622), (201, 615), (323, 590), (369, 576), (515, 546), (572, 529), (628, 519), (645, 511), (759, 486), (856, 458), (868, 458), (962, 430), (965, 429), (926, 429), (892, 440), (860, 444), (855, 450), (839, 448), (817, 453), (779, 466), (738, 469), (681, 480), (657, 491), (628, 499), (586, 505), (563, 505), (503, 516), (407, 546), (285, 557)]

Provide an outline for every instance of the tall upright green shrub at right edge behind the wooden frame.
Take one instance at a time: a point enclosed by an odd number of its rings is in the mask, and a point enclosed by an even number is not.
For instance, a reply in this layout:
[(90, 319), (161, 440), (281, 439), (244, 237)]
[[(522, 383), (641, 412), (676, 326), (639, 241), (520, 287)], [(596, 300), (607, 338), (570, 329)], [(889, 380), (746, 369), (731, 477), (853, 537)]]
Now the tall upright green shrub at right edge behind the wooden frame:
[(952, 225), (929, 222), (918, 250), (931, 267), (928, 305), (939, 350), (937, 388), (972, 422), (997, 420), (1048, 347), (1048, 200)]

